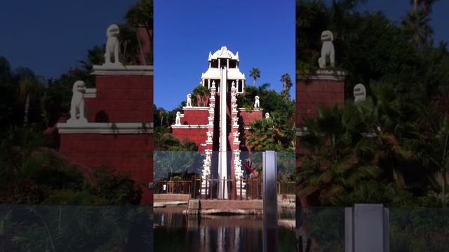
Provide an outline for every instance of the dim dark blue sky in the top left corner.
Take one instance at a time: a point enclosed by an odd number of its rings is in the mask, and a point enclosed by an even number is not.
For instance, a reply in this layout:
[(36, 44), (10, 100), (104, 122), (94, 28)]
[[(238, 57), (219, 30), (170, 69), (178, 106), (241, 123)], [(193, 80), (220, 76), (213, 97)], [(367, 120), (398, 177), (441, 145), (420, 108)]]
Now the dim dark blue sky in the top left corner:
[(1, 1), (0, 55), (55, 78), (79, 66), (87, 50), (106, 42), (106, 29), (123, 23), (136, 0)]

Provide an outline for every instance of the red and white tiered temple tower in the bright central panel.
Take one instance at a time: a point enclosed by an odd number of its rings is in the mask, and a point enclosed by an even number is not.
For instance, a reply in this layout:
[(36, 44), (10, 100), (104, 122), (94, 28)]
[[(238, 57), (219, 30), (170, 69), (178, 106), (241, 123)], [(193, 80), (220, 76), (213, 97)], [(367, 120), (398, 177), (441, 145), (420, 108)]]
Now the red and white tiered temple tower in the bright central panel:
[[(246, 84), (239, 62), (239, 52), (234, 54), (225, 46), (214, 53), (209, 52), (208, 69), (201, 73), (200, 85), (210, 90), (210, 97), (203, 104), (194, 106), (192, 95), (188, 94), (187, 106), (182, 108), (184, 113), (179, 113), (179, 120), (171, 127), (175, 137), (199, 144), (199, 151), (205, 153), (203, 188), (206, 188), (206, 179), (217, 179), (218, 176), (222, 182), (216, 185), (215, 196), (219, 199), (234, 197), (235, 186), (227, 188), (223, 179), (243, 179), (240, 154), (246, 147), (241, 139), (250, 123), (262, 119), (259, 107), (246, 111), (237, 106), (237, 96), (243, 93)], [(213, 155), (214, 152), (217, 155)], [(244, 189), (242, 192), (246, 193)]]

